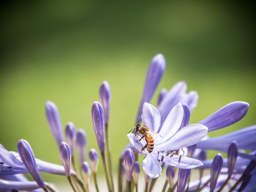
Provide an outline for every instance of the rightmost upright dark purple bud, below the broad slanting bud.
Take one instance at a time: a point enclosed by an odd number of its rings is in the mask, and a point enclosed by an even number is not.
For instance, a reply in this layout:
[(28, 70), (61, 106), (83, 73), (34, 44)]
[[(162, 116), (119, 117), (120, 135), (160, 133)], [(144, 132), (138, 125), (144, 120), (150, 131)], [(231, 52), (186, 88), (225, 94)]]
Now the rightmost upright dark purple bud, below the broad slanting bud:
[(236, 141), (234, 141), (230, 144), (228, 148), (228, 175), (229, 176), (233, 174), (237, 156), (238, 156), (238, 149), (237, 149)]

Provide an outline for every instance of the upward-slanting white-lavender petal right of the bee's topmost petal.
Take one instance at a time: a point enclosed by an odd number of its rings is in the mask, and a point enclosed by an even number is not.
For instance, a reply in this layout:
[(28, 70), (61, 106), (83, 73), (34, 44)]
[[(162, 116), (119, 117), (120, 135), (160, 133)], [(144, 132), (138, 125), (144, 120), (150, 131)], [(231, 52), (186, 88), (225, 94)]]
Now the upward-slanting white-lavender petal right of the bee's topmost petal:
[(183, 120), (183, 114), (184, 110), (180, 103), (172, 108), (169, 115), (165, 119), (162, 128), (158, 132), (159, 135), (164, 137), (164, 139), (161, 140), (161, 143), (169, 140), (179, 130)]

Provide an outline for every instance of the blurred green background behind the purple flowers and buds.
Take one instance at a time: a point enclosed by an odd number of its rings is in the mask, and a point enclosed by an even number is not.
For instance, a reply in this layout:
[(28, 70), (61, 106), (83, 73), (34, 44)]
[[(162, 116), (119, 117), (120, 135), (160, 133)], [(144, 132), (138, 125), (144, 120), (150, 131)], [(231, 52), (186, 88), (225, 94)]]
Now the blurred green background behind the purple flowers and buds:
[(244, 119), (210, 136), (256, 123), (252, 2), (2, 1), (0, 18), (0, 143), (8, 150), (17, 151), (18, 140), (25, 139), (37, 158), (61, 164), (45, 117), (46, 100), (58, 106), (63, 127), (72, 121), (84, 128), (88, 149), (98, 150), (91, 107), (107, 80), (116, 170), (135, 124), (148, 64), (157, 53), (164, 54), (166, 70), (152, 104), (162, 87), (185, 80), (188, 91), (199, 94), (190, 123), (232, 101), (250, 104)]

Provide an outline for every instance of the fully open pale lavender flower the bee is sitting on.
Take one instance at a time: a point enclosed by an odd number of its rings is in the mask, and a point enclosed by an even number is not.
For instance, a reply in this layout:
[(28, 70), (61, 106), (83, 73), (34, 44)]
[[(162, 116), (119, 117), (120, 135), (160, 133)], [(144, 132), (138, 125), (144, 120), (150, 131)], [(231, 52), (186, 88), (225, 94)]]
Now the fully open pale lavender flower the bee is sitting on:
[[(161, 123), (160, 114), (153, 105), (146, 102), (144, 103), (141, 115), (143, 124), (163, 137), (160, 141), (155, 140), (155, 146), (151, 153), (149, 153), (147, 149), (142, 151), (143, 154), (147, 155), (142, 162), (142, 167), (145, 173), (151, 178), (158, 177), (162, 172), (162, 168), (160, 166), (161, 163), (157, 161), (158, 159), (160, 161), (162, 159), (166, 164), (181, 169), (193, 169), (203, 165), (201, 161), (193, 158), (182, 156), (180, 159), (180, 156), (178, 155), (170, 155), (169, 157), (169, 155), (166, 154), (166, 151), (173, 151), (194, 145), (207, 134), (207, 127), (201, 124), (190, 124), (179, 130), (183, 120), (183, 114), (183, 107), (179, 103), (172, 108), (171, 112), (165, 119), (161, 130), (158, 131)], [(127, 137), (131, 141), (133, 147), (138, 151), (141, 151), (146, 144), (144, 139), (140, 140), (140, 136), (138, 134), (135, 136), (134, 133), (129, 133)], [(140, 140), (140, 142), (137, 140)]]

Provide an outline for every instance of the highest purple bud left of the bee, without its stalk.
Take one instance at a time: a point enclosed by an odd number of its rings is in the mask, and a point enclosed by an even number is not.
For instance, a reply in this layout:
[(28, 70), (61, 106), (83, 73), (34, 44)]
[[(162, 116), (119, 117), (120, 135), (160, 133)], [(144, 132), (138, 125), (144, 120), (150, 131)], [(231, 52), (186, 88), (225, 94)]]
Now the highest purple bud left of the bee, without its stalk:
[(105, 123), (109, 121), (109, 109), (111, 101), (111, 90), (110, 85), (107, 81), (103, 81), (100, 86), (100, 103), (104, 109)]

